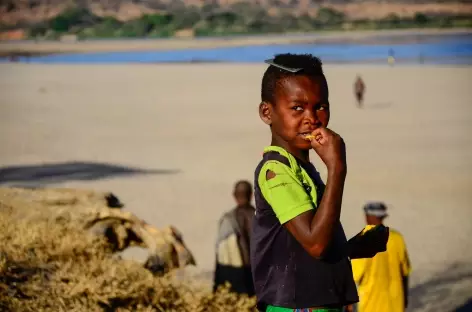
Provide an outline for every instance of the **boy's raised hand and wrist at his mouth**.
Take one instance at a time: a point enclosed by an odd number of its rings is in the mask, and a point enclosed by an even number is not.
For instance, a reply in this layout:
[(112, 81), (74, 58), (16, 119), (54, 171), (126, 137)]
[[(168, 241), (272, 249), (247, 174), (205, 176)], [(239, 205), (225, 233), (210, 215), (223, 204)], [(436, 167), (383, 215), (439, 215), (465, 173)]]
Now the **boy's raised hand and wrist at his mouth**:
[(336, 132), (318, 128), (312, 132), (311, 146), (325, 163), (328, 171), (346, 171), (346, 146)]

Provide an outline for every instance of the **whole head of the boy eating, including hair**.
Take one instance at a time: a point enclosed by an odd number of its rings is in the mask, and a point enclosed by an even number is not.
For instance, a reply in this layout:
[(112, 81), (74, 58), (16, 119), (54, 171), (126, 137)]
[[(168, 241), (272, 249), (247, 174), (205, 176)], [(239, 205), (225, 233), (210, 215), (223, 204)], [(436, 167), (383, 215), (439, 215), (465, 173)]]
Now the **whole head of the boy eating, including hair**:
[(271, 128), (273, 144), (289, 152), (308, 151), (311, 143), (304, 135), (329, 122), (328, 84), (321, 61), (309, 54), (279, 54), (268, 63), (259, 115)]

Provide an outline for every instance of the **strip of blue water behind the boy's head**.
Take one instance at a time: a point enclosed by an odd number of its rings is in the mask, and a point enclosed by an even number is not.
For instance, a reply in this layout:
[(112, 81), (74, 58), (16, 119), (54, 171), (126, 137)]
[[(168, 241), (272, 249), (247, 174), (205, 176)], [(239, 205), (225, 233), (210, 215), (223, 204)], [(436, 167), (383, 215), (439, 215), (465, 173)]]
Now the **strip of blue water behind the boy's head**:
[[(418, 42), (419, 41), (419, 42)], [(132, 44), (132, 41), (130, 41)], [(472, 34), (435, 36), (427, 40), (377, 43), (318, 43), (243, 46), (172, 51), (57, 54), (21, 57), (29, 63), (160, 63), (160, 62), (262, 62), (277, 53), (311, 53), (325, 63), (385, 63), (389, 51), (397, 63), (472, 64)], [(5, 62), (5, 59), (0, 62)]]

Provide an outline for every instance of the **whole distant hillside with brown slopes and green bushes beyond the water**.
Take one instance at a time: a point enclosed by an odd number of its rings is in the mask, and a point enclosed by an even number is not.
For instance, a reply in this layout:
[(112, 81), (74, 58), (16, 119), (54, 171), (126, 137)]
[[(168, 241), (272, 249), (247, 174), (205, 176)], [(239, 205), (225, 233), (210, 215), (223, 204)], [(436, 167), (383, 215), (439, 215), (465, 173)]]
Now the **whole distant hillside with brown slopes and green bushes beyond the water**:
[[(3, 0), (0, 39), (472, 27), (472, 0)], [(22, 34), (18, 35), (18, 30)], [(8, 33), (7, 33), (8, 31)], [(6, 34), (6, 35), (5, 35)]]

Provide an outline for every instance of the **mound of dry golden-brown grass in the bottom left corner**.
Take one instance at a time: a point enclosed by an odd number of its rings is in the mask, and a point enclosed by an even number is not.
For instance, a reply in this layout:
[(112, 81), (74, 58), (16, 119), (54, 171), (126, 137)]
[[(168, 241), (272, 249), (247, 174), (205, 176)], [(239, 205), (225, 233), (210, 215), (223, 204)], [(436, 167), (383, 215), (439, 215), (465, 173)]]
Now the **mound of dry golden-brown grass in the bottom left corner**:
[(1, 311), (254, 311), (254, 298), (154, 276), (70, 224), (18, 220), (0, 203)]

